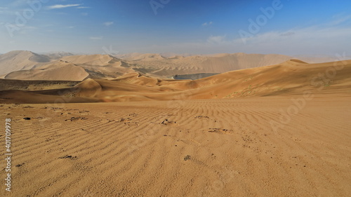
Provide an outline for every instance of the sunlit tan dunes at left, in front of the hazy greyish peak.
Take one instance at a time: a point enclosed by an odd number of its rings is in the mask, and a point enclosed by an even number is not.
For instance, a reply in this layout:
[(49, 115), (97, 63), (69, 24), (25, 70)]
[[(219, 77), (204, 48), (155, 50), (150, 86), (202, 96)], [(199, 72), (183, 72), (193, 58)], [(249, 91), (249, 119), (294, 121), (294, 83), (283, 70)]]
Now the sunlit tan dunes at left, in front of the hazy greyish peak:
[[(30, 54), (28, 57), (29, 60), (39, 58)], [(39, 61), (37, 60), (37, 62)], [(33, 67), (15, 69), (16, 71), (5, 74), (3, 78), (36, 81), (82, 81), (86, 78), (115, 79), (125, 73), (135, 72), (131, 68), (123, 67), (122, 64), (125, 63), (110, 55), (70, 55), (60, 57), (59, 60), (51, 60), (51, 62), (37, 63)]]

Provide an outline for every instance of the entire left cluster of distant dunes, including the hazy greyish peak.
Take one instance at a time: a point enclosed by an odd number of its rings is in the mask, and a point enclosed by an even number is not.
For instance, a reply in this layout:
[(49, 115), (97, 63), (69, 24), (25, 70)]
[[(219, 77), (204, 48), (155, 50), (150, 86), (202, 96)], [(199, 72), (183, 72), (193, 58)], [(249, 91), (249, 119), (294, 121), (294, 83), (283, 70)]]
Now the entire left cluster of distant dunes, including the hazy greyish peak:
[[(69, 66), (62, 66), (65, 63)], [(81, 81), (86, 78), (87, 73), (93, 79), (114, 79), (125, 73), (135, 72), (131, 68), (123, 67), (123, 64), (126, 63), (110, 55), (39, 55), (18, 50), (0, 55), (0, 76), (4, 79), (20, 80)], [(72, 71), (69, 72), (71, 68)]]

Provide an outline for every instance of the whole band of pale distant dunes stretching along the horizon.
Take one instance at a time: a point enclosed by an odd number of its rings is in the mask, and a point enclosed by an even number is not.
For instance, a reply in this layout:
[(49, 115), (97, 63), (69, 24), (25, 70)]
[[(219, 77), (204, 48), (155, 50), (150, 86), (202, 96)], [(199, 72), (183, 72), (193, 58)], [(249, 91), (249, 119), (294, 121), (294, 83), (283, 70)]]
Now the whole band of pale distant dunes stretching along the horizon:
[[(238, 69), (263, 67), (279, 64), (293, 57), (276, 54), (246, 54), (246, 53), (223, 53), (213, 55), (174, 55), (162, 56), (154, 53), (131, 53), (126, 55), (73, 55), (71, 53), (49, 53), (39, 55), (30, 51), (13, 51), (0, 55), (0, 77), (6, 79), (31, 79), (45, 80), (38, 71), (33, 69), (53, 67), (55, 71), (60, 68), (61, 62), (75, 64), (89, 74), (91, 79), (115, 79), (126, 73), (138, 72), (154, 78), (172, 79), (176, 75), (188, 75), (189, 79), (197, 79), (201, 74), (218, 74)], [(329, 57), (305, 57), (307, 62), (312, 60), (329, 60)], [(46, 70), (46, 74), (48, 74)], [(19, 72), (20, 71), (20, 72)], [(26, 72), (23, 72), (26, 71)], [(16, 74), (14, 72), (17, 72)], [(65, 72), (63, 70), (62, 72)], [(21, 76), (25, 74), (25, 76)], [(194, 74), (194, 76), (191, 76)], [(51, 76), (52, 74), (48, 74)], [(30, 78), (31, 76), (32, 78)], [(72, 76), (72, 75), (71, 75)], [(52, 80), (81, 79), (81, 76), (55, 77)]]

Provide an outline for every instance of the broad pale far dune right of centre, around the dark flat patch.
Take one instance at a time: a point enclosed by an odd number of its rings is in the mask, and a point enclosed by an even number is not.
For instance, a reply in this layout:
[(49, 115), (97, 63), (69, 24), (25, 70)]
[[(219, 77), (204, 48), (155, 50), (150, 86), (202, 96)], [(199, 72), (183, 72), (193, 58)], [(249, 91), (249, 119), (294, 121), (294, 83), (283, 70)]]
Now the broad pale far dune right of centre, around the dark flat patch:
[[(122, 59), (124, 57), (121, 57)], [(126, 58), (133, 69), (148, 76), (169, 78), (176, 74), (223, 73), (237, 69), (278, 64), (292, 57), (262, 54), (217, 54), (161, 57), (157, 54), (132, 55)]]

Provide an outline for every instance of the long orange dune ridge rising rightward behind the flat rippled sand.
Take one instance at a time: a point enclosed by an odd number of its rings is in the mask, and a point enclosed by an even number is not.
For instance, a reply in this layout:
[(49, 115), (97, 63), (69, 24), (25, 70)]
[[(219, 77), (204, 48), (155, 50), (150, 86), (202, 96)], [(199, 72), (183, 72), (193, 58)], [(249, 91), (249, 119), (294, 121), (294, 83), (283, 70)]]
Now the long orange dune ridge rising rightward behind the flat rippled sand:
[[(27, 100), (35, 102), (32, 95), (70, 96), (74, 97), (74, 102), (119, 102), (302, 95), (305, 91), (350, 94), (350, 74), (351, 60), (321, 64), (289, 60), (282, 64), (241, 69), (197, 80), (157, 79), (139, 73), (125, 74), (113, 80), (85, 79), (69, 89), (72, 94), (66, 93), (67, 88), (32, 91)], [(13, 97), (13, 100), (3, 98), (2, 102), (15, 102), (18, 98), (13, 92), (5, 91), (2, 95)]]

